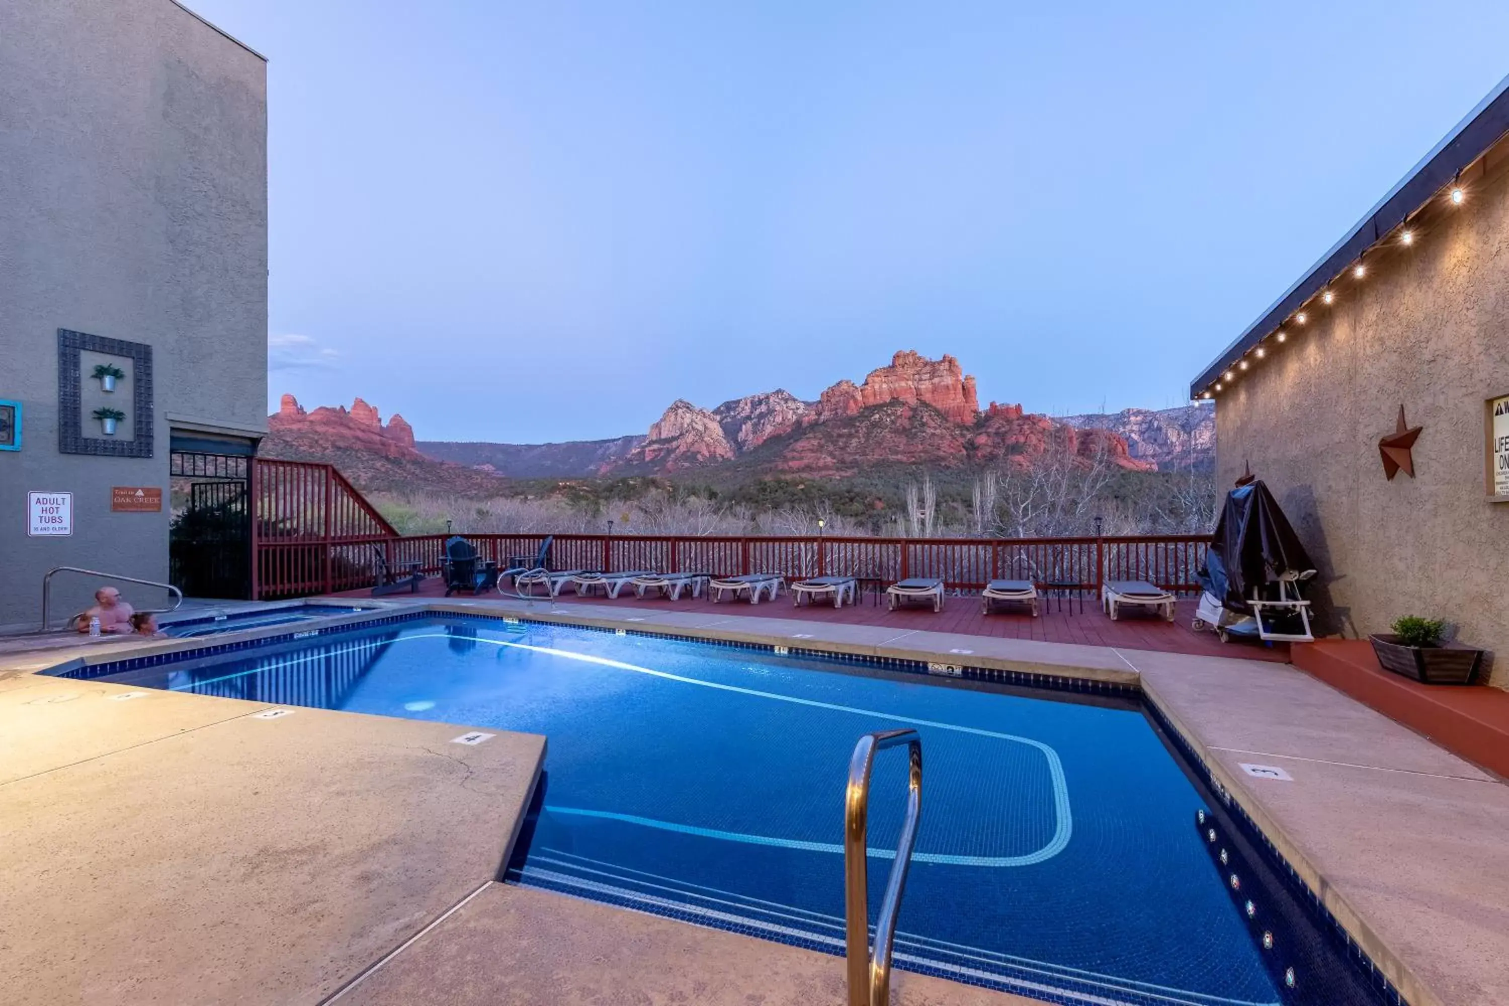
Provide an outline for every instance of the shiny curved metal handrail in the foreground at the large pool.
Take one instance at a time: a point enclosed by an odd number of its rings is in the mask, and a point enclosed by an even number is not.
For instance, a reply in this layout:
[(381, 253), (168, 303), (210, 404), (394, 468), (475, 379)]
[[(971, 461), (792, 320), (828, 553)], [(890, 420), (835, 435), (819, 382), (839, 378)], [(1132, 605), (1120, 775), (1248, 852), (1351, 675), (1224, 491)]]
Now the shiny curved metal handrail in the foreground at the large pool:
[[(901, 825), (896, 858), (869, 943), (869, 771), (875, 753), (905, 744), (908, 748), (907, 819)], [(911, 849), (922, 817), (922, 738), (916, 730), (878, 730), (854, 745), (850, 781), (844, 793), (844, 929), (848, 958), (848, 1006), (887, 1006), (890, 1001), (890, 946), (896, 937), (901, 893), (907, 885)]]

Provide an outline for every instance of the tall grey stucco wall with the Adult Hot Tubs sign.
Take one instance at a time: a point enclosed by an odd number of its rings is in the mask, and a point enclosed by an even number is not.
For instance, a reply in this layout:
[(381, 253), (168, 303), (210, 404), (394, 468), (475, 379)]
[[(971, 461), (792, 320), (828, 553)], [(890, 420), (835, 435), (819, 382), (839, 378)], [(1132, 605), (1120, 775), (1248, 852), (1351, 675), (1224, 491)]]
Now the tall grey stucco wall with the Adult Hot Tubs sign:
[[(0, 398), (24, 406), (23, 449), (0, 451), (0, 626), (38, 617), (53, 566), (166, 578), (166, 507), (112, 513), (110, 487), (166, 499), (172, 427), (266, 428), (266, 95), (264, 60), (171, 0), (0, 3)], [(59, 452), (57, 329), (152, 347), (152, 457)], [(130, 412), (97, 389), (86, 416)], [(74, 535), (27, 537), (27, 490), (72, 492)]]

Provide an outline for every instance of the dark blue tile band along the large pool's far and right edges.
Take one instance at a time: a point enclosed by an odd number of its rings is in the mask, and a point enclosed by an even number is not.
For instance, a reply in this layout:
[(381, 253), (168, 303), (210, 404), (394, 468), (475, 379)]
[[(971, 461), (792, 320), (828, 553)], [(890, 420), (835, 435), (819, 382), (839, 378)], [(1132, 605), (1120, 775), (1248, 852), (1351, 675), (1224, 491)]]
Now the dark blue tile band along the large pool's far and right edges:
[[(115, 674), (125, 674), (130, 671), (139, 671), (151, 667), (161, 667), (163, 664), (177, 664), (180, 661), (192, 661), (199, 658), (217, 656), (222, 653), (234, 653), (238, 650), (250, 650), (258, 647), (279, 646), (284, 643), (294, 643), (302, 639), (309, 639), (315, 636), (326, 636), (335, 633), (356, 632), (362, 629), (371, 629), (385, 624), (398, 624), (406, 621), (420, 621), (426, 618), (460, 618), (466, 621), (481, 621), (481, 623), (501, 623), (501, 624), (539, 624), (539, 626), (566, 626), (570, 629), (585, 630), (585, 632), (601, 632), (607, 635), (632, 635), (646, 636), (655, 639), (675, 639), (681, 643), (699, 643), (703, 646), (715, 646), (733, 650), (751, 650), (759, 653), (771, 653), (774, 656), (792, 656), (804, 661), (815, 661), (819, 664), (830, 665), (850, 665), (863, 667), (869, 670), (886, 670), (886, 671), (901, 671), (905, 674), (916, 674), (930, 682), (985, 682), (993, 685), (1010, 685), (1020, 688), (1032, 688), (1040, 691), (1056, 691), (1056, 692), (1073, 692), (1073, 694), (1091, 694), (1091, 695), (1106, 695), (1135, 700), (1139, 707), (1147, 713), (1147, 716), (1156, 724), (1156, 727), (1174, 744), (1179, 754), (1183, 757), (1185, 763), (1194, 769), (1204, 786), (1210, 789), (1212, 793), (1222, 802), (1222, 805), (1233, 811), (1233, 819), (1246, 833), (1246, 837), (1254, 842), (1254, 845), (1262, 849), (1263, 855), (1271, 861), (1271, 866), (1280, 869), (1286, 876), (1289, 876), (1298, 890), (1301, 890), (1308, 902), (1310, 909), (1314, 912), (1316, 920), (1326, 926), (1332, 935), (1343, 941), (1349, 956), (1355, 967), (1369, 976), (1369, 980), (1375, 985), (1375, 989), (1384, 997), (1384, 1001), (1390, 1006), (1411, 1006), (1403, 994), (1394, 986), (1384, 970), (1372, 959), (1372, 956), (1358, 944), (1352, 934), (1342, 925), (1340, 920), (1331, 912), (1325, 905), (1322, 897), (1314, 891), (1314, 888), (1305, 881), (1304, 875), (1299, 873), (1293, 864), (1284, 857), (1278, 846), (1268, 837), (1268, 834), (1257, 824), (1249, 810), (1243, 805), (1242, 799), (1231, 793), (1231, 790), (1221, 781), (1216, 772), (1212, 769), (1209, 762), (1201, 756), (1198, 748), (1185, 736), (1185, 733), (1174, 724), (1174, 721), (1153, 701), (1153, 698), (1139, 685), (1123, 685), (1118, 682), (1105, 682), (1099, 679), (1086, 677), (1071, 677), (1065, 674), (1043, 674), (1038, 671), (1013, 671), (993, 667), (976, 667), (969, 664), (954, 664), (954, 662), (930, 662), (930, 661), (913, 661), (905, 658), (889, 658), (889, 656), (869, 656), (857, 653), (842, 653), (836, 650), (815, 649), (810, 646), (783, 646), (774, 643), (745, 643), (739, 639), (718, 639), (708, 638), (702, 635), (691, 635), (687, 632), (664, 632), (650, 629), (628, 629), (619, 626), (599, 626), (599, 624), (582, 624), (569, 621), (564, 618), (531, 618), (527, 615), (504, 615), (504, 614), (487, 614), (477, 611), (456, 611), (447, 608), (423, 608), (418, 611), (401, 611), (389, 615), (377, 615), (374, 618), (359, 618), (355, 614), (333, 615), (341, 617), (343, 621), (333, 626), (309, 626), (308, 621), (299, 623), (303, 627), (297, 632), (281, 632), (273, 635), (260, 635), (247, 639), (235, 639), (226, 643), (216, 643), (213, 646), (201, 647), (184, 647), (172, 649), (161, 653), (151, 653), (136, 658), (124, 658), (118, 661), (101, 661), (98, 664), (85, 664), (81, 659), (72, 659), (65, 664), (39, 671), (41, 674), (48, 674), (53, 677), (66, 677), (74, 680), (97, 680), (101, 677), (110, 677)], [(254, 632), (255, 629), (249, 629)], [(1396, 962), (1396, 970), (1405, 971), (1405, 968)], [(952, 980), (960, 980), (955, 976), (940, 974), (940, 977), (952, 977)]]

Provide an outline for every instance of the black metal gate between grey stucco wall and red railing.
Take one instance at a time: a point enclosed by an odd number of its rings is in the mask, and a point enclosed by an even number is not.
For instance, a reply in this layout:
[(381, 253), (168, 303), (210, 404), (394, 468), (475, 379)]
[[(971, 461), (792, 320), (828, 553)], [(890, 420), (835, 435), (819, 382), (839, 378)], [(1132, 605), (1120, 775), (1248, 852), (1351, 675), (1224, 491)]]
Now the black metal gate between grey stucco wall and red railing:
[(186, 597), (252, 596), (250, 459), (174, 451), (169, 579)]

